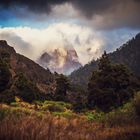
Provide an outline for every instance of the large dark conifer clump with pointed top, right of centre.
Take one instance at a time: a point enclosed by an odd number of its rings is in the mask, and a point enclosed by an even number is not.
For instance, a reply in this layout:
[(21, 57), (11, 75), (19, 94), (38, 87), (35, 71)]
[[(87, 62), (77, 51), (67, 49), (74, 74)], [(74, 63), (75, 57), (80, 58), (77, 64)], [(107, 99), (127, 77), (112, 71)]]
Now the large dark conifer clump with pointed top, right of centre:
[(99, 70), (93, 72), (88, 84), (88, 106), (110, 111), (133, 97), (136, 82), (122, 64), (111, 64), (106, 52), (100, 58)]

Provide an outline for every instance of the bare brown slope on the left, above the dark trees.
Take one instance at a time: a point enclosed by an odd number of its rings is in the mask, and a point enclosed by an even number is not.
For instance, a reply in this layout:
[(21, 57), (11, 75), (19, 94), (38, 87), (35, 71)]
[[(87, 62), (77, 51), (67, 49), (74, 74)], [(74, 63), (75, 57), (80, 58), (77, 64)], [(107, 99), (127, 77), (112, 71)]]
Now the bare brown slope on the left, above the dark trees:
[(54, 75), (49, 69), (44, 69), (29, 58), (16, 53), (13, 47), (9, 46), (6, 41), (0, 40), (0, 56), (2, 59), (8, 55), (8, 64), (12, 77), (23, 73), (30, 81), (47, 94), (50, 92), (49, 87), (54, 82)]

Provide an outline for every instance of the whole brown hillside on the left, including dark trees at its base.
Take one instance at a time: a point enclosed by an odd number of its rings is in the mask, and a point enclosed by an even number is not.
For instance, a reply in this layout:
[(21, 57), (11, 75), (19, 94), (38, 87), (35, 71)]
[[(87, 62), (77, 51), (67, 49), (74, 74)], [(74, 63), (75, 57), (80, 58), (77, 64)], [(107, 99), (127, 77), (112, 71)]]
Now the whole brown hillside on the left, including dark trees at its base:
[(49, 69), (16, 53), (6, 41), (0, 41), (0, 101), (11, 100), (16, 95), (31, 101), (53, 92), (53, 84), (54, 75)]

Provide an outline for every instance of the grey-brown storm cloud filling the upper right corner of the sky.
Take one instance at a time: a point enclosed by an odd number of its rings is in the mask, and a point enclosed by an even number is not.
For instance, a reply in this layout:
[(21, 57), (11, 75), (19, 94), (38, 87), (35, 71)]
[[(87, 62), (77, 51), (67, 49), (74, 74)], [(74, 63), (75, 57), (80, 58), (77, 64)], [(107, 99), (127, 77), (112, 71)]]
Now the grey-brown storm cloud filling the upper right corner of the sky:
[(88, 25), (102, 29), (140, 28), (140, 0), (73, 0)]

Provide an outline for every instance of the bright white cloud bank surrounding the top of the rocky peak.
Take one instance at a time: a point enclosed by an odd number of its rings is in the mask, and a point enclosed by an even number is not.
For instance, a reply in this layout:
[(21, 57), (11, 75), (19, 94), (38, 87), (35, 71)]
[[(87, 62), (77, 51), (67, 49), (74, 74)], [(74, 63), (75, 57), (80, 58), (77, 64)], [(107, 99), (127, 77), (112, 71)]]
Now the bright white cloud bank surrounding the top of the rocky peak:
[(104, 45), (102, 36), (93, 29), (70, 23), (52, 24), (45, 29), (0, 28), (0, 39), (7, 40), (18, 53), (32, 60), (37, 60), (44, 51), (73, 47), (82, 64), (100, 56)]

